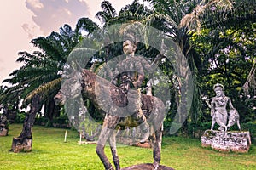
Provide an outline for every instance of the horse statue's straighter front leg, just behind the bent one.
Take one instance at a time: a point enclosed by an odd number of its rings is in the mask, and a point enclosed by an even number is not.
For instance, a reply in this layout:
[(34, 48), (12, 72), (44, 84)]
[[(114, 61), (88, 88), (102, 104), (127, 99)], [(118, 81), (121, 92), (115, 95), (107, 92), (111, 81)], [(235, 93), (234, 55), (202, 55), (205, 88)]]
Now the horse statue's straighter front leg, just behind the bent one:
[(114, 163), (115, 169), (120, 170), (119, 156), (117, 154), (115, 137), (116, 137), (116, 133), (112, 133), (112, 135), (109, 138), (109, 144), (110, 144), (110, 149), (113, 156), (113, 163)]

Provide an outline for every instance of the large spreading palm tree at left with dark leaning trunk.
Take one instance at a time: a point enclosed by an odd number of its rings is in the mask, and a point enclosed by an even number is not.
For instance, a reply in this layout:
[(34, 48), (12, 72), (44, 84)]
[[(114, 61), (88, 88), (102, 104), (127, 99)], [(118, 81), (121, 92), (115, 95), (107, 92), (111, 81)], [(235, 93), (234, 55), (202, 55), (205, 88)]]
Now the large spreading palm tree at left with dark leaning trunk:
[[(61, 88), (63, 66), (73, 48), (83, 39), (82, 30), (85, 35), (89, 35), (96, 29), (96, 23), (88, 18), (81, 18), (75, 31), (71, 26), (64, 25), (60, 28), (60, 33), (52, 32), (48, 37), (33, 39), (32, 45), (41, 51), (35, 51), (33, 54), (19, 53), (17, 62), (24, 65), (10, 74), (12, 78), (3, 81), (9, 82), (11, 86), (4, 90), (0, 99), (2, 102), (11, 102), (18, 96), (20, 102), (23, 100), (24, 107), (31, 106), (20, 137), (31, 137), (32, 132), (27, 126), (32, 126), (43, 105), (44, 114), (49, 120), (59, 115), (59, 108), (55, 106), (53, 97)], [(27, 129), (29, 132), (25, 132)]]

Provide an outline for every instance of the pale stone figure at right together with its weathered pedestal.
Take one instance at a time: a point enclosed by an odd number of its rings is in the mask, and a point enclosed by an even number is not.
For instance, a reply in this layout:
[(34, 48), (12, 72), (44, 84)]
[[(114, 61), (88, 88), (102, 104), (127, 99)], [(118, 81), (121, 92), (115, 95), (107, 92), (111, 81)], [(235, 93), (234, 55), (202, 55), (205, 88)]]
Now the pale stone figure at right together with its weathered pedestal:
[[(233, 107), (231, 99), (224, 95), (222, 84), (215, 84), (213, 90), (216, 96), (212, 99), (206, 99), (207, 105), (211, 108), (212, 127), (211, 130), (206, 130), (201, 136), (201, 146), (211, 147), (213, 150), (219, 151), (248, 152), (252, 144), (250, 132), (225, 132), (235, 123), (241, 131), (239, 114)], [(226, 109), (227, 105), (229, 105), (230, 111)], [(213, 131), (215, 122), (220, 126), (218, 128), (220, 131)]]

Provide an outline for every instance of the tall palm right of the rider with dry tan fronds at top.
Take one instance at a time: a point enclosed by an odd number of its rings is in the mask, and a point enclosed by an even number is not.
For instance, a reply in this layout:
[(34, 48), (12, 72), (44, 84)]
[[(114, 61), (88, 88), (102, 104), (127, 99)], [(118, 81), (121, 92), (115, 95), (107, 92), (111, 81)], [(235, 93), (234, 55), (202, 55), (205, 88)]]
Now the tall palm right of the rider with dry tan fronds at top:
[(212, 16), (209, 9), (216, 7), (222, 11), (230, 11), (233, 8), (233, 3), (230, 0), (145, 1), (149, 2), (155, 10), (152, 19), (160, 19), (162, 21), (160, 29), (165, 31), (169, 37), (172, 37), (173, 41), (177, 42), (183, 51), (183, 55), (188, 59), (190, 69), (193, 72), (195, 87), (193, 101), (189, 111), (190, 114), (186, 121), (186, 115), (181, 115), (179, 120), (180, 122), (184, 122), (184, 127), (188, 122), (193, 127), (194, 124), (198, 124), (201, 121), (202, 116), (200, 99), (201, 85), (198, 76), (205, 60), (201, 59), (200, 54), (198, 54), (192, 38), (195, 36), (195, 33), (201, 31), (202, 26), (205, 26), (205, 23), (209, 19), (205, 16)]

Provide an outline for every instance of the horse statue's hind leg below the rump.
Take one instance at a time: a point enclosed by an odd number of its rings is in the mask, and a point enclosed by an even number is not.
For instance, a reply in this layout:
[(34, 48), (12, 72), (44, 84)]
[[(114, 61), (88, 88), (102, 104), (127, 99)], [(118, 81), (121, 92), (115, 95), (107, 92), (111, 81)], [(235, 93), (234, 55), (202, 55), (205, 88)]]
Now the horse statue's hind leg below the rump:
[(155, 131), (155, 137), (153, 137), (153, 158), (154, 158), (154, 170), (157, 170), (160, 165), (161, 143), (162, 143), (162, 131), (158, 129)]

